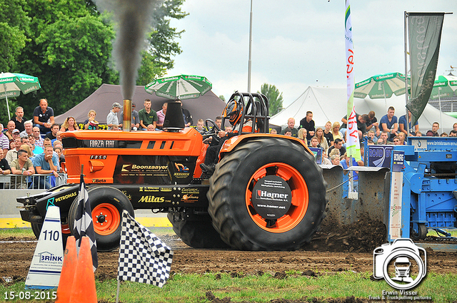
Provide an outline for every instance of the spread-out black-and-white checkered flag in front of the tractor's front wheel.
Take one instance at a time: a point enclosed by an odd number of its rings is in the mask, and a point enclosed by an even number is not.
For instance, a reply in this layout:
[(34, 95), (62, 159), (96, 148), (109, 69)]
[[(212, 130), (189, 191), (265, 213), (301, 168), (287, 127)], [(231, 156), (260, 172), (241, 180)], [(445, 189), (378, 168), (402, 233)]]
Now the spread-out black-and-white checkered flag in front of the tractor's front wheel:
[(172, 259), (170, 247), (124, 210), (117, 279), (163, 287)]

